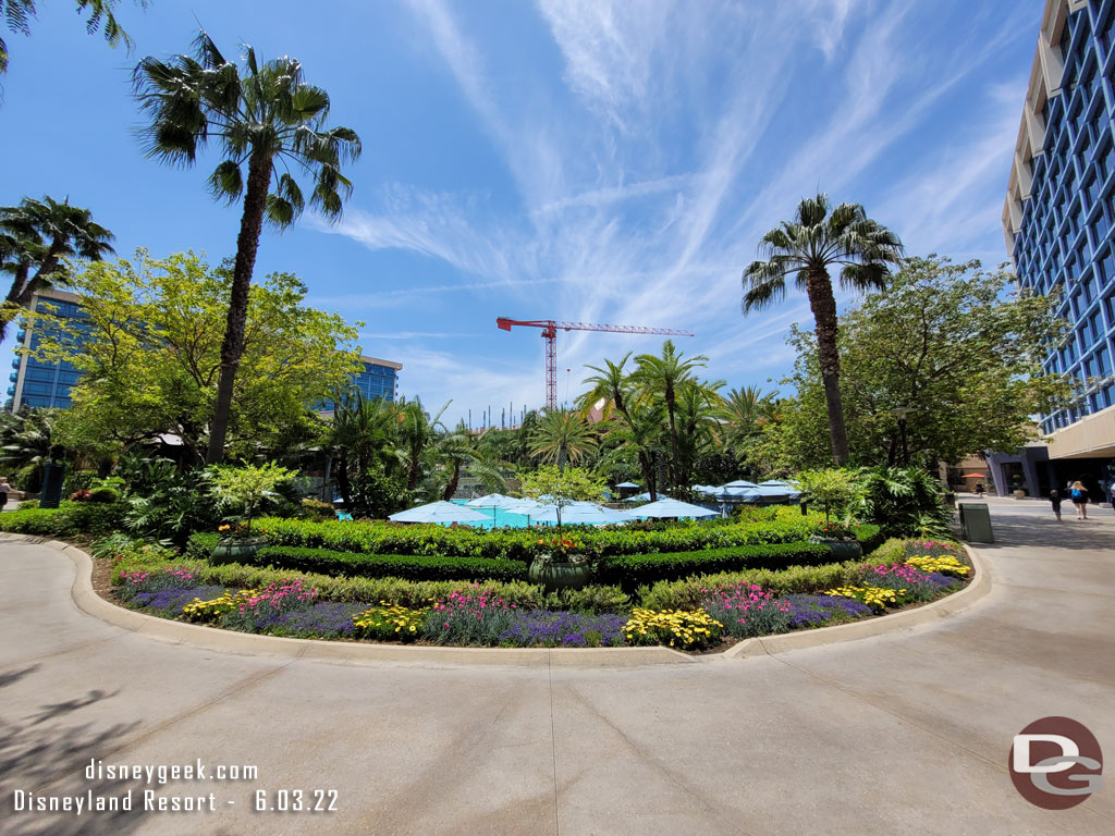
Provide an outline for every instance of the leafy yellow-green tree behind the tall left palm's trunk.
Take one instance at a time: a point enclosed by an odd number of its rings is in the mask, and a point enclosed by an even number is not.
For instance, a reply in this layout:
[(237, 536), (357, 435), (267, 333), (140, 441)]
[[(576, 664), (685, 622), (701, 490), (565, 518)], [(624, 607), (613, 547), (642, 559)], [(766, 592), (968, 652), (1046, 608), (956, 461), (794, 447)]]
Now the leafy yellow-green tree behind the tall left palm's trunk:
[[(226, 266), (211, 269), (193, 253), (155, 260), (144, 251), (134, 262), (96, 262), (75, 275), (70, 285), (87, 317), (50, 323), (38, 350), (85, 372), (72, 408), (59, 418), (67, 443), (113, 449), (173, 435), (201, 460), (232, 282)], [(230, 426), (242, 456), (254, 457), (301, 425), (313, 404), (360, 368), (356, 329), (303, 305), (306, 292), (289, 273), (251, 289), (245, 373), (236, 379)]]

